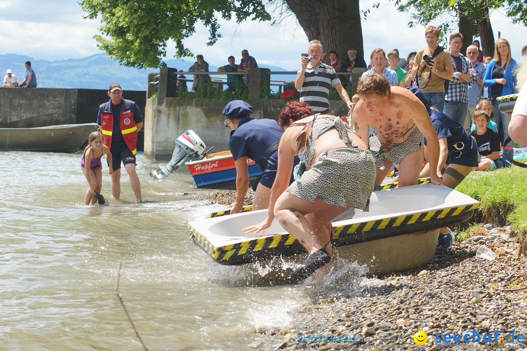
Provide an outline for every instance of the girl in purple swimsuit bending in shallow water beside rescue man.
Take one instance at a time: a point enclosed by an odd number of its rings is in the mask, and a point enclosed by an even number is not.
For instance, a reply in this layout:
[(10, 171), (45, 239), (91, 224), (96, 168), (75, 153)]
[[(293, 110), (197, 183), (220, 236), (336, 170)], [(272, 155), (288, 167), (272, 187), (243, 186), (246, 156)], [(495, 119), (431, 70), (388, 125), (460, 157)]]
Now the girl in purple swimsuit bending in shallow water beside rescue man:
[[(88, 145), (84, 149), (84, 154), (81, 158), (81, 169), (86, 177), (88, 185), (90, 186), (84, 196), (84, 205), (90, 205), (97, 202), (95, 198), (95, 190), (101, 192), (102, 186), (102, 163), (101, 158), (104, 154), (108, 159), (108, 173), (112, 174), (112, 154), (110, 149), (103, 145), (102, 134), (99, 131), (92, 132), (88, 137)], [(84, 165), (89, 164), (90, 167)]]

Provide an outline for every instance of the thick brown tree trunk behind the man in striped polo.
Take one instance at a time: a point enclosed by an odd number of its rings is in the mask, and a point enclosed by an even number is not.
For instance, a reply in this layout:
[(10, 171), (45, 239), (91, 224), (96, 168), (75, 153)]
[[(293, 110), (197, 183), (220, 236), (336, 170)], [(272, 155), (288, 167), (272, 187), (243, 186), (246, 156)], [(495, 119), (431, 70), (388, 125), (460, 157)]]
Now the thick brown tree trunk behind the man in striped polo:
[[(309, 41), (317, 39), (324, 48), (338, 52), (340, 59), (348, 57), (348, 48), (357, 49), (364, 57), (359, 0), (285, 0), (304, 29)], [(307, 49), (308, 43), (306, 43)], [(299, 53), (300, 54), (300, 53)]]

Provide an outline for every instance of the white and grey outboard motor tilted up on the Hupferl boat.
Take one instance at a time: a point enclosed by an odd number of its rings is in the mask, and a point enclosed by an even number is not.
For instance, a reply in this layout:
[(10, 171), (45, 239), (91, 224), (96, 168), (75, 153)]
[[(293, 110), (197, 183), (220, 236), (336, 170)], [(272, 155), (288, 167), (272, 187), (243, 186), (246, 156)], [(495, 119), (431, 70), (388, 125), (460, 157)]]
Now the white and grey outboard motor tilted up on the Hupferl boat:
[(151, 171), (150, 176), (154, 177), (154, 180), (162, 180), (178, 169), (179, 166), (189, 161), (189, 159), (205, 157), (212, 148), (205, 152), (205, 144), (201, 141), (198, 134), (194, 133), (194, 131), (187, 131), (176, 139), (170, 162), (166, 166), (159, 165), (159, 169), (156, 172)]

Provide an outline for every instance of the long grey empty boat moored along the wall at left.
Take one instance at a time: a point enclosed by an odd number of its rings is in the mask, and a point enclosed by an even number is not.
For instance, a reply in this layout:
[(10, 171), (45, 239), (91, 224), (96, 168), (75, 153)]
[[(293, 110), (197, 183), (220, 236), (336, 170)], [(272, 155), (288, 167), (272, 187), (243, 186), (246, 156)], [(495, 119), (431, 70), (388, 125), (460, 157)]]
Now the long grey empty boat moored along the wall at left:
[(0, 128), (0, 151), (74, 153), (96, 128), (96, 123)]

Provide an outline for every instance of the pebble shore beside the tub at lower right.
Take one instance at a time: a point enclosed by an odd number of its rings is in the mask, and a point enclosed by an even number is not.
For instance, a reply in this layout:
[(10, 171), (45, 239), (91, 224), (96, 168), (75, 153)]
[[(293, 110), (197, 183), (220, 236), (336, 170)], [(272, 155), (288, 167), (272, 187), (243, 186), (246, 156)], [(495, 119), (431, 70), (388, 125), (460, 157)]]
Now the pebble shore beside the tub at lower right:
[[(230, 204), (235, 192), (208, 196)], [(250, 204), (252, 193), (246, 197)], [(527, 351), (524, 343), (500, 344), (507, 334), (527, 338), (527, 258), (510, 227), (485, 224), (479, 236), (439, 249), (419, 269), (379, 276), (373, 287), (352, 297), (319, 299), (294, 312), (294, 324), (255, 329), (254, 350), (427, 350), (500, 349)], [(485, 245), (496, 258), (476, 256)], [(474, 330), (473, 330), (474, 329)], [(419, 330), (428, 335), (423, 346), (414, 341)], [(495, 332), (499, 337), (496, 344)], [(304, 340), (299, 338), (299, 333)], [(492, 343), (436, 343), (435, 335), (492, 334)], [(327, 337), (327, 341), (323, 337)], [(340, 337), (340, 339), (338, 338)], [(331, 341), (333, 340), (333, 341)], [(337, 342), (336, 340), (340, 340)], [(345, 342), (344, 340), (348, 340)]]

